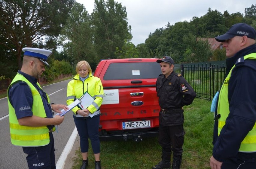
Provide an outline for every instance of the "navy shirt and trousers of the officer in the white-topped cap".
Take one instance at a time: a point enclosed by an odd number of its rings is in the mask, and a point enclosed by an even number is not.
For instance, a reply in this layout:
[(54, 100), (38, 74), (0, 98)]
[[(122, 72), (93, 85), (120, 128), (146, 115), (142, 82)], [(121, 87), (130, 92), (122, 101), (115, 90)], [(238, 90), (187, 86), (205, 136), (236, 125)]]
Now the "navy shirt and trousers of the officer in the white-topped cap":
[[(33, 86), (38, 90), (41, 95), (45, 113), (47, 118), (53, 118), (53, 112), (51, 106), (48, 103), (46, 93), (37, 85), (37, 79), (32, 77), (22, 71), (18, 71), (19, 74), (22, 74), (26, 79), (28, 79)], [(17, 97), (19, 96), (19, 97)], [(9, 89), (9, 100), (11, 105), (15, 109), (15, 114), (17, 119), (29, 117), (33, 115), (31, 109), (23, 111), (20, 107), (32, 107), (33, 97), (31, 89), (28, 84), (23, 81), (18, 81), (14, 83)], [(45, 146), (40, 147), (22, 147), (23, 152), (27, 154), (26, 160), (28, 162), (29, 168), (41, 168), (42, 166), (47, 166), (46, 168), (56, 168), (55, 167), (55, 155), (54, 155), (54, 139), (52, 134), (52, 129), (54, 125), (47, 126), (49, 129), (50, 143)], [(46, 156), (50, 154), (50, 156)]]

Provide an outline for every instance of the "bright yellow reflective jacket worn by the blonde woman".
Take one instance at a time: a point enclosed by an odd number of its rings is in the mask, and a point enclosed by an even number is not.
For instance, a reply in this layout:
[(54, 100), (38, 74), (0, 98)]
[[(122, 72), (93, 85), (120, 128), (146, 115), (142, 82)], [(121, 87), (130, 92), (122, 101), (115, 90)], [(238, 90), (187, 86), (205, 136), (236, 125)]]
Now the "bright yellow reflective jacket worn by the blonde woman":
[[(103, 100), (103, 87), (100, 78), (93, 76), (91, 73), (89, 77), (84, 80), (84, 83), (79, 79), (79, 75), (76, 74), (73, 80), (68, 83), (67, 88), (67, 104), (73, 103), (76, 99), (80, 98), (84, 92), (88, 92), (95, 100), (87, 107), (91, 113), (95, 115), (100, 114), (100, 106)], [(74, 107), (72, 111), (77, 117), (81, 117), (76, 114), (80, 108), (78, 106)]]

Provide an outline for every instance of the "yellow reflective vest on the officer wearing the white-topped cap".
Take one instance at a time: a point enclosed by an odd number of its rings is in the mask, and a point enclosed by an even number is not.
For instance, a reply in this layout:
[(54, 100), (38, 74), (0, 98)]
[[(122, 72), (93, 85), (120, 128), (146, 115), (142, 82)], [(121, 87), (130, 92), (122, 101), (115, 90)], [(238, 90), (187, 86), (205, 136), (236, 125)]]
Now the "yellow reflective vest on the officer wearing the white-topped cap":
[[(19, 73), (14, 77), (14, 79), (11, 82), (11, 85), (17, 81), (23, 81), (24, 83), (27, 83), (29, 88), (31, 89), (32, 96), (33, 96), (33, 105), (32, 105), (33, 115), (45, 118), (46, 113), (44, 110), (43, 101), (42, 101), (41, 95), (39, 94), (35, 86), (33, 86), (32, 83), (29, 82), (29, 80), (27, 80), (23, 75)], [(39, 84), (38, 86), (40, 87)], [(8, 91), (9, 91), (9, 88), (8, 88)], [(48, 102), (50, 102), (48, 95), (47, 95), (47, 98), (48, 98)], [(10, 121), (10, 133), (11, 133), (12, 144), (17, 146), (23, 146), (23, 147), (44, 146), (49, 144), (50, 137), (49, 137), (48, 127), (21, 126), (17, 120), (14, 107), (11, 105), (9, 98), (8, 98), (8, 106), (9, 106), (9, 121)]]

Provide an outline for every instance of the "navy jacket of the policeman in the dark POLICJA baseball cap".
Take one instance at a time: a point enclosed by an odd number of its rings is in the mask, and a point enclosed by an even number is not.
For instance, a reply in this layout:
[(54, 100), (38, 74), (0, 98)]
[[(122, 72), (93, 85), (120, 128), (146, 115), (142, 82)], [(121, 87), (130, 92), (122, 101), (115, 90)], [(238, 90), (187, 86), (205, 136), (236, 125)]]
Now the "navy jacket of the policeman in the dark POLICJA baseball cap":
[[(215, 118), (213, 135), (214, 147), (212, 154), (216, 160), (225, 162), (222, 164), (221, 168), (232, 168), (232, 165), (234, 164), (235, 166), (233, 166), (233, 168), (235, 168), (237, 167), (236, 164), (239, 164), (239, 162), (248, 163), (245, 164), (246, 167), (248, 167), (248, 165), (252, 165), (252, 168), (255, 167), (256, 152), (244, 153), (238, 151), (241, 140), (243, 140), (243, 137), (245, 137), (245, 135), (247, 135), (247, 133), (252, 129), (252, 126), (254, 126), (256, 120), (256, 110), (255, 108), (251, 109), (251, 106), (249, 106), (250, 104), (255, 105), (256, 97), (248, 94), (256, 93), (256, 89), (253, 86), (256, 84), (256, 79), (253, 78), (256, 74), (256, 60), (241, 59), (241, 57), (251, 53), (256, 53), (255, 44), (240, 50), (233, 57), (226, 59), (227, 66), (224, 79), (227, 77), (227, 74), (230, 72), (234, 64), (236, 64), (236, 67), (232, 71), (232, 77), (229, 80), (228, 88), (228, 100), (230, 101), (230, 122), (228, 125), (225, 125), (222, 128), (222, 130), (225, 131), (225, 134), (221, 135), (221, 138), (218, 137), (218, 116)], [(240, 85), (237, 85), (238, 81), (241, 82)], [(233, 96), (239, 97), (236, 97), (236, 99), (231, 99)], [(237, 110), (238, 106), (240, 111)], [(243, 112), (242, 114), (241, 111)], [(253, 114), (254, 116), (251, 116)], [(239, 135), (236, 134), (238, 131)], [(232, 135), (232, 139), (230, 139), (230, 135)], [(241, 167), (243, 167), (243, 165)]]

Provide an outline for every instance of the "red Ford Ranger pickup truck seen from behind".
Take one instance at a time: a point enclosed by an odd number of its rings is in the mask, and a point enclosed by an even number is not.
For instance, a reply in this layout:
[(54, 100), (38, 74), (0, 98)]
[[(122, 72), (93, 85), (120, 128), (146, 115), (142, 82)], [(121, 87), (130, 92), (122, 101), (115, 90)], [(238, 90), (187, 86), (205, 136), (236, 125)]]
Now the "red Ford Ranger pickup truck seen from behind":
[(160, 107), (156, 80), (162, 73), (156, 58), (107, 59), (97, 65), (104, 96), (100, 107), (101, 141), (142, 141), (158, 135)]

